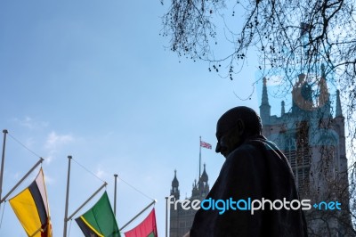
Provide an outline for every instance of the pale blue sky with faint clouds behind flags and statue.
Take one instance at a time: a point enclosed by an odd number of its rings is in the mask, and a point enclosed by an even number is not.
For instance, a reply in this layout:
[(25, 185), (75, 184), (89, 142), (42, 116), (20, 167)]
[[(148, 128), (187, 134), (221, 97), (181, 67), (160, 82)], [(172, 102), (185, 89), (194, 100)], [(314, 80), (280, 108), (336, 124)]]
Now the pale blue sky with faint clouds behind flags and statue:
[[(0, 128), (44, 157), (55, 236), (63, 228), (68, 155), (109, 183), (111, 200), (115, 173), (157, 199), (158, 234), (164, 236), (174, 169), (182, 199), (198, 177), (199, 135), (213, 145), (202, 151), (212, 186), (223, 164), (214, 153), (216, 120), (237, 105), (258, 109), (255, 94), (247, 101), (234, 94), (252, 92), (253, 61), (231, 82), (209, 73), (206, 62), (165, 50), (167, 38), (159, 36), (165, 7), (158, 0), (0, 4)], [(8, 137), (3, 196), (36, 160)], [(69, 214), (100, 185), (73, 162)], [(123, 182), (117, 188), (121, 226), (150, 199)], [(3, 208), (0, 235), (25, 236), (8, 202)], [(69, 236), (81, 236), (74, 221)]]

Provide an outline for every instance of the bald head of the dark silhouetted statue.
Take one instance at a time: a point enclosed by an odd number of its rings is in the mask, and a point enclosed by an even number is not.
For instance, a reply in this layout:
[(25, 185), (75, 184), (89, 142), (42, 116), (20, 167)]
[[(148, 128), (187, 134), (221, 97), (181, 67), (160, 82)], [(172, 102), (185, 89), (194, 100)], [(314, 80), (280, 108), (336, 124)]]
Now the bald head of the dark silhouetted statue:
[(225, 112), (217, 122), (215, 151), (227, 158), (247, 137), (261, 134), (262, 123), (255, 110), (235, 107)]

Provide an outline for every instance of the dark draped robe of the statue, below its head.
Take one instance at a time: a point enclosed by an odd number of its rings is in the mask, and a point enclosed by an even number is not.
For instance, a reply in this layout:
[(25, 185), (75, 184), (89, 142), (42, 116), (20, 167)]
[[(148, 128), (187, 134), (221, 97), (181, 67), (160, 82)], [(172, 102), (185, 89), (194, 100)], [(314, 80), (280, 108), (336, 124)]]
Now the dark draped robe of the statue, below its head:
[[(225, 160), (223, 168), (206, 199), (213, 200), (299, 200), (295, 178), (287, 158), (263, 135), (247, 139)], [(206, 204), (206, 206), (208, 206)], [(278, 205), (279, 206), (279, 205)], [(294, 207), (297, 206), (294, 203)], [(209, 236), (307, 236), (303, 211), (219, 210), (200, 208), (194, 218), (190, 237)]]

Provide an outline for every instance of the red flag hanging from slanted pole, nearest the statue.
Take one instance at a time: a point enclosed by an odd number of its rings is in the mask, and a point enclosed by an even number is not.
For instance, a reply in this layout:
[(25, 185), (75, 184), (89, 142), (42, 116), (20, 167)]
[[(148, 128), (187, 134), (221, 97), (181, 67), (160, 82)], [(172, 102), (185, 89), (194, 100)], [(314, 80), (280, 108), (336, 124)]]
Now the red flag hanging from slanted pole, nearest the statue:
[(125, 233), (125, 237), (158, 237), (155, 208), (150, 211), (142, 223)]

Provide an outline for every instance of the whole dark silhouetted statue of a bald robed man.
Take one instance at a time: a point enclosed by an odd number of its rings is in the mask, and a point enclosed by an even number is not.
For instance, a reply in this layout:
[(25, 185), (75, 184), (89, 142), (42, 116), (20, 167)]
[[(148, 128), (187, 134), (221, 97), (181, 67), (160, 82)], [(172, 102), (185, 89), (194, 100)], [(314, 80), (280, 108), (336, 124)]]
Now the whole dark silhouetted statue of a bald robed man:
[[(241, 106), (225, 112), (217, 122), (216, 138), (216, 152), (226, 160), (206, 197), (210, 202), (206, 201), (206, 208), (200, 208), (194, 218), (190, 237), (307, 236), (292, 169), (277, 146), (262, 135), (261, 119), (255, 110)], [(271, 203), (266, 201), (264, 210), (252, 214), (250, 202), (263, 199)], [(225, 201), (224, 212), (223, 201), (216, 204), (216, 200)], [(242, 201), (227, 205), (226, 200)], [(285, 201), (289, 209), (271, 210), (275, 200)], [(281, 207), (281, 203), (276, 201), (275, 207)]]

